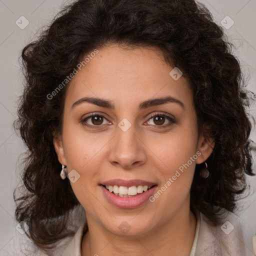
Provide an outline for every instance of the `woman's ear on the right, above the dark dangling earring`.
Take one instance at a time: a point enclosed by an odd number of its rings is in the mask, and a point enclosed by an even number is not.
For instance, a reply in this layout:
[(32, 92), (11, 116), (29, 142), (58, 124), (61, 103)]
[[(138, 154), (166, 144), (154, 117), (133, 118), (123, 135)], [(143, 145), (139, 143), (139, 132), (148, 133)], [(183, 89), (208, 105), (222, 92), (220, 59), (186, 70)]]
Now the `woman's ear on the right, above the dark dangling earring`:
[(204, 134), (199, 136), (197, 150), (201, 152), (200, 157), (197, 157), (195, 162), (200, 164), (204, 162), (212, 153), (213, 147), (215, 146), (214, 139)]

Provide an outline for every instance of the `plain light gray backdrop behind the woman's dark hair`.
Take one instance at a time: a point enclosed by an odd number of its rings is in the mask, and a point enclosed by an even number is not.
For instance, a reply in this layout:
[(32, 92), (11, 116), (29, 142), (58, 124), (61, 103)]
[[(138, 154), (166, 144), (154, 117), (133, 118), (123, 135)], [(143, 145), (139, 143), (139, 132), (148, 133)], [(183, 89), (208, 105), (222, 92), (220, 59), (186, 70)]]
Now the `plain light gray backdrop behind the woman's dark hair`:
[[(236, 49), (243, 72), (248, 76), (248, 88), (256, 92), (256, 0), (200, 0), (213, 14), (216, 23), (223, 20), (234, 24), (224, 31)], [(20, 180), (19, 159), (25, 148), (11, 128), (16, 118), (16, 101), (22, 91), (22, 74), (18, 57), (22, 47), (34, 39), (34, 33), (58, 12), (62, 0), (0, 0), (0, 256), (22, 255), (20, 247), (29, 248), (29, 241), (15, 226), (12, 193)], [(25, 24), (24, 16), (29, 24)], [(225, 18), (225, 19), (223, 19)], [(15, 21), (19, 22), (19, 26)], [(22, 24), (21, 24), (22, 22)], [(254, 100), (255, 101), (255, 100)], [(255, 116), (256, 104), (252, 102), (250, 113)], [(256, 141), (253, 127), (251, 139)], [(254, 158), (255, 160), (255, 158)], [(254, 165), (254, 172), (256, 167)], [(249, 196), (239, 201), (237, 214), (256, 233), (256, 177), (248, 177), (251, 184)]]

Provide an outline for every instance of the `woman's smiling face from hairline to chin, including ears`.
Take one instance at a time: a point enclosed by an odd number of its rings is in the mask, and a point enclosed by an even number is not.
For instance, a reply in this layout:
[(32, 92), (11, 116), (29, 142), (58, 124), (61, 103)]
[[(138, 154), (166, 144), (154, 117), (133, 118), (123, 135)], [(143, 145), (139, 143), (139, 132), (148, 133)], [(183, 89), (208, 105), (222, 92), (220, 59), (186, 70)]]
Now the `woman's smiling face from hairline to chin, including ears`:
[(54, 147), (88, 223), (147, 234), (189, 211), (195, 164), (211, 149), (188, 81), (161, 51), (108, 44), (93, 55), (67, 88)]

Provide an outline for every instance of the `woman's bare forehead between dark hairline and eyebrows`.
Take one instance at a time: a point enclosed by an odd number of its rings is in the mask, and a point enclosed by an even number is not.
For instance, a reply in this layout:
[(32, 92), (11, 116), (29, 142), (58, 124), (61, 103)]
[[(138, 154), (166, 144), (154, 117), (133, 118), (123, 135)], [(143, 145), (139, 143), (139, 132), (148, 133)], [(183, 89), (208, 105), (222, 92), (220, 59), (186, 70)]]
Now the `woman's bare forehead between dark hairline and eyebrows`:
[(67, 89), (66, 100), (70, 104), (82, 96), (126, 101), (127, 104), (166, 95), (191, 101), (187, 79), (183, 76), (173, 79), (169, 73), (174, 67), (165, 62), (156, 47), (109, 44), (96, 54), (87, 53), (83, 59), (86, 57), (86, 64)]

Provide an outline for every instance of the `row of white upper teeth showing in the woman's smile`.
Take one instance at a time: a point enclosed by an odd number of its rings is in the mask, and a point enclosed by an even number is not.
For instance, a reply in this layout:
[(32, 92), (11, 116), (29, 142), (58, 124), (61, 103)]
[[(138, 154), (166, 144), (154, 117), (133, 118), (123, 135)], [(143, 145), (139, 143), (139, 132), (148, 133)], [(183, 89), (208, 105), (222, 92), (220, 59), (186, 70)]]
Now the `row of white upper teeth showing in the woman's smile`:
[(147, 191), (151, 186), (147, 185), (138, 185), (138, 186), (117, 186), (117, 185), (106, 185), (106, 189), (109, 192), (113, 192), (115, 195), (121, 196), (121, 197), (131, 197), (136, 195), (137, 193), (142, 193)]

